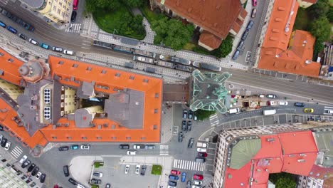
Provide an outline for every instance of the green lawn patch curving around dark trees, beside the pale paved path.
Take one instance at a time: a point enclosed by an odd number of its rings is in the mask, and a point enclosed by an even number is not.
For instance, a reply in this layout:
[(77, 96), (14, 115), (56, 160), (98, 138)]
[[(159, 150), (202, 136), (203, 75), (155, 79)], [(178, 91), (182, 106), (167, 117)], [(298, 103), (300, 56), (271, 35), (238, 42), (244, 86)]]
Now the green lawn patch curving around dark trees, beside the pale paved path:
[(117, 35), (137, 38), (138, 40), (144, 39), (146, 33), (140, 34), (122, 31), (124, 29), (120, 28), (120, 25), (124, 22), (124, 20), (122, 20), (124, 14), (130, 14), (132, 16), (132, 13), (126, 6), (121, 6), (120, 9), (115, 11), (98, 11), (93, 14), (93, 17), (97, 26), (107, 33), (113, 33), (116, 29), (115, 34)]

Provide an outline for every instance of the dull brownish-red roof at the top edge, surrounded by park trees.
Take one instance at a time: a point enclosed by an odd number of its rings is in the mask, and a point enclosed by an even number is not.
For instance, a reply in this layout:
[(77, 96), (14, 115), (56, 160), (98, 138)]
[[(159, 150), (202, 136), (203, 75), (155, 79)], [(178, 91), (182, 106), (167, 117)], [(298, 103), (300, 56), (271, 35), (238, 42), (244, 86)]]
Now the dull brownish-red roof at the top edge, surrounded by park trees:
[(164, 6), (222, 39), (226, 38), (238, 15), (244, 14), (240, 1), (165, 0)]

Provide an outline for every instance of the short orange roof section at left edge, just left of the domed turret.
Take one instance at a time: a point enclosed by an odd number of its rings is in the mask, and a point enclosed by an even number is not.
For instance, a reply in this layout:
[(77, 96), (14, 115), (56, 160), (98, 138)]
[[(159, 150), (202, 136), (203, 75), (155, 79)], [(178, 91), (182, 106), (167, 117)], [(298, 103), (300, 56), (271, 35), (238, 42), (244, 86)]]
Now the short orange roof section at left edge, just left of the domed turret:
[[(4, 54), (0, 56), (0, 70), (4, 71), (4, 73), (0, 75), (0, 78), (9, 83), (20, 85), (21, 75), (18, 73), (18, 68), (23, 65), (23, 61), (11, 56), (11, 54), (4, 51), (3, 48), (0, 48), (0, 53)], [(9, 61), (10, 59), (12, 62)]]

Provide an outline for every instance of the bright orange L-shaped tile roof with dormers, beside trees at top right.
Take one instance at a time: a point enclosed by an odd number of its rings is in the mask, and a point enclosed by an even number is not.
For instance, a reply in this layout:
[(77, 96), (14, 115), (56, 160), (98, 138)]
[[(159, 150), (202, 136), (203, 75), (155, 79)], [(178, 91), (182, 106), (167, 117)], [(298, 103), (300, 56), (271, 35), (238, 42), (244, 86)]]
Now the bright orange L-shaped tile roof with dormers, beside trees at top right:
[[(318, 77), (320, 64), (312, 62), (314, 38), (306, 31), (296, 31), (295, 36), (290, 38), (298, 9), (295, 1), (292, 9), (294, 14), (289, 18), (292, 2), (275, 1), (260, 51), (258, 68)], [(289, 19), (289, 31), (286, 32)], [(287, 49), (288, 43), (292, 45), (289, 46), (290, 49)]]

